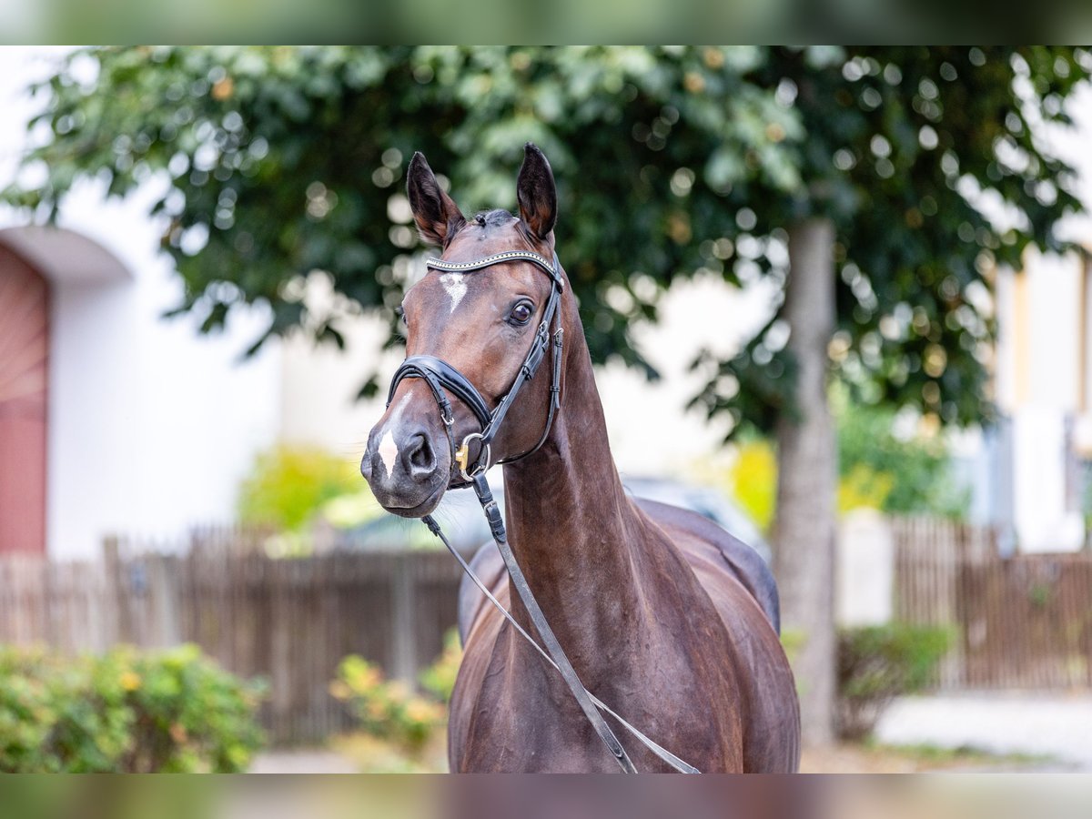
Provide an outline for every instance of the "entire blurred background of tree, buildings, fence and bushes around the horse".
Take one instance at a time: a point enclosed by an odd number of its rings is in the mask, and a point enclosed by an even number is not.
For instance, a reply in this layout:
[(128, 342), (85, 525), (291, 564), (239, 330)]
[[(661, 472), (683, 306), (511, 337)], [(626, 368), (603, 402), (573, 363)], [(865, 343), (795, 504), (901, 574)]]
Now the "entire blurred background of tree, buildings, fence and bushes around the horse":
[(410, 157), (512, 209), (529, 140), (624, 483), (775, 570), (805, 768), (1092, 768), (1090, 72), (0, 49), (0, 770), (443, 769), (459, 567), (358, 462)]

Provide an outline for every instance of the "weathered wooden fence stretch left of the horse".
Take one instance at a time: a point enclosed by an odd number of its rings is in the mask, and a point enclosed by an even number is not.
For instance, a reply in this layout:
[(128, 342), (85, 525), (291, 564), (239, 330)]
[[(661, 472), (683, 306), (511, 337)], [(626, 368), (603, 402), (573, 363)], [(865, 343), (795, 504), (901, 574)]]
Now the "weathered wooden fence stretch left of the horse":
[(351, 724), (329, 692), (343, 657), (412, 682), (455, 625), (461, 570), (447, 551), (272, 558), (261, 537), (205, 534), (182, 551), (108, 541), (100, 560), (0, 559), (0, 643), (197, 643), (268, 680), (262, 722), (273, 743), (292, 745)]

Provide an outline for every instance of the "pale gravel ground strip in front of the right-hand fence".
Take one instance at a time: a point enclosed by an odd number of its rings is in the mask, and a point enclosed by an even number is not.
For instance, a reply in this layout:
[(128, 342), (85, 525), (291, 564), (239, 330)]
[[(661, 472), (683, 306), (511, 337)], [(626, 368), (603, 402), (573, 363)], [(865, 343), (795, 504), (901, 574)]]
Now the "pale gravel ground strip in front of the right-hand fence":
[(1052, 770), (1092, 771), (1092, 695), (960, 692), (897, 700), (876, 738), (1051, 757)]

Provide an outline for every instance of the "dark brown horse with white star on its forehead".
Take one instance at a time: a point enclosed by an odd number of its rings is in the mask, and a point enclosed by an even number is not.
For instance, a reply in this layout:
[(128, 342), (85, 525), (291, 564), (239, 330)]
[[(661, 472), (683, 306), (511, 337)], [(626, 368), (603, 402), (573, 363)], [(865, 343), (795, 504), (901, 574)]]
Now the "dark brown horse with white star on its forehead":
[[(517, 191), (519, 217), (491, 211), (467, 222), (425, 158), (417, 154), (410, 164), (417, 227), (448, 262), (509, 250), (554, 258), (554, 177), (530, 144)], [(403, 304), (407, 353), (443, 359), (495, 406), (517, 377), (549, 295), (549, 278), (525, 261), (430, 271)], [(773, 578), (756, 553), (698, 514), (627, 496), (569, 287), (559, 321), (560, 410), (543, 446), (505, 466), (512, 550), (558, 641), (587, 690), (700, 770), (796, 770), (799, 710), (778, 640)], [(539, 375), (519, 393), (491, 462), (539, 441), (549, 387), (549, 375)], [(479, 431), (464, 402), (450, 397), (454, 440)], [(670, 431), (650, 429), (649, 442), (670, 446)], [(458, 480), (452, 460), (429, 385), (401, 381), (361, 462), (376, 497), (396, 514), (426, 515)], [(514, 594), (510, 600), (496, 548), (474, 562), (534, 633), (527, 609)], [(617, 770), (559, 675), (477, 590), (464, 587), (460, 609), (465, 656), (451, 700), (451, 770)], [(619, 737), (639, 770), (667, 770)]]

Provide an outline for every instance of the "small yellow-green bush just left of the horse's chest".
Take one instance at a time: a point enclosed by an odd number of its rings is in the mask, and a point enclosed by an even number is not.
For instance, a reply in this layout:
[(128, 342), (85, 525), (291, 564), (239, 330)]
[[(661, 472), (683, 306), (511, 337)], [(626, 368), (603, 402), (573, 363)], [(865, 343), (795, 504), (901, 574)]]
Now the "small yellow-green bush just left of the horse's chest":
[(349, 703), (366, 733), (411, 749), (419, 749), (446, 716), (443, 705), (384, 679), (376, 665), (356, 654), (337, 666), (330, 692)]

